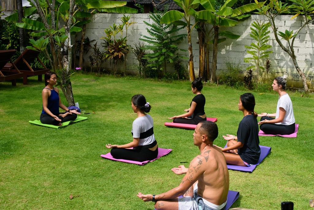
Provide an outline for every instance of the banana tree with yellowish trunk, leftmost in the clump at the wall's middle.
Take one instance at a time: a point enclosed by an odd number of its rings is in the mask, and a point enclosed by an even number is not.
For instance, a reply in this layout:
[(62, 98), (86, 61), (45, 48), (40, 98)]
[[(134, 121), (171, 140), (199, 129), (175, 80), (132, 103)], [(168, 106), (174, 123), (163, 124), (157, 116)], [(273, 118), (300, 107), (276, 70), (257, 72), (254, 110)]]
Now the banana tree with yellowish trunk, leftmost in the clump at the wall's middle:
[[(177, 10), (170, 10), (166, 12), (160, 20), (162, 24), (169, 24), (174, 23), (177, 25), (185, 25), (187, 29), (187, 43), (188, 43), (188, 52), (189, 52), (189, 75), (190, 80), (195, 80), (195, 73), (194, 73), (194, 62), (193, 62), (193, 49), (192, 49), (192, 38), (191, 38), (191, 31), (197, 24), (197, 21), (194, 25), (192, 25), (192, 17), (196, 13), (195, 9), (198, 8), (199, 3), (194, 3), (193, 0), (174, 0), (176, 4), (182, 8), (183, 13)], [(184, 19), (185, 22), (181, 21)], [(191, 27), (192, 25), (192, 27)]]

